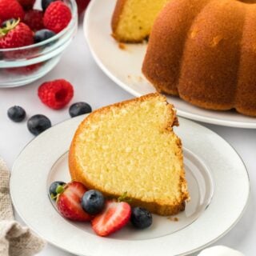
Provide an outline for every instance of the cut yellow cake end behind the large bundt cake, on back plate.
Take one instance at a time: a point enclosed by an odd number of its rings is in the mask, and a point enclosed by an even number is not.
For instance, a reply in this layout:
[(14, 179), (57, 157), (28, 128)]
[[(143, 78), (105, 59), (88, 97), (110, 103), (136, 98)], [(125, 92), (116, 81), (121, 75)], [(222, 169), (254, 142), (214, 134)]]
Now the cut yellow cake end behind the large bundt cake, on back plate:
[(113, 36), (119, 42), (142, 42), (154, 19), (170, 0), (118, 0), (112, 17)]

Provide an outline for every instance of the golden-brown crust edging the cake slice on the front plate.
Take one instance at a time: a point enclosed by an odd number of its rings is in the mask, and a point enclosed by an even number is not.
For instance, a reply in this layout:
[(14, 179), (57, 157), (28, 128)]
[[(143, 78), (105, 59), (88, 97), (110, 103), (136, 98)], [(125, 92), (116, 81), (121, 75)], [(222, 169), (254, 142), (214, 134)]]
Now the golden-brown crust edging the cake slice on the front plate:
[[(147, 94), (145, 96), (142, 96), (140, 98), (136, 98), (137, 101), (143, 102), (144, 100), (155, 97), (156, 95), (159, 94)], [(78, 130), (74, 134), (73, 141), (70, 146), (70, 153), (69, 153), (69, 168), (70, 168), (70, 175), (72, 180), (82, 182), (88, 189), (96, 189), (96, 190), (101, 190), (102, 193), (106, 196), (110, 196), (112, 198), (118, 198), (120, 194), (111, 194), (109, 192), (106, 192), (102, 187), (99, 187), (97, 184), (91, 184), (90, 181), (88, 181), (83, 174), (82, 167), (78, 164), (78, 160), (76, 157), (76, 145), (79, 143), (78, 139), (78, 134), (81, 134), (83, 130), (83, 126), (88, 120), (93, 120), (94, 116), (97, 114), (102, 114), (104, 112), (108, 112), (108, 110), (112, 106), (118, 106), (122, 107), (125, 106), (126, 104), (130, 104), (131, 102), (134, 102), (134, 99), (125, 101), (125, 102), (118, 102), (116, 104), (113, 104), (111, 106), (106, 106), (103, 107), (99, 110), (94, 111), (90, 115), (88, 115), (82, 123), (78, 126)], [(167, 102), (166, 102), (167, 104)], [(172, 106), (172, 105), (170, 105)], [(173, 111), (173, 118), (170, 120), (170, 123), (168, 125), (167, 130), (172, 131), (173, 126), (178, 126), (178, 118), (176, 116), (176, 112), (174, 110), (174, 107), (172, 106), (172, 111)], [(138, 198), (131, 198), (132, 202), (131, 205), (133, 206), (142, 206), (145, 207), (146, 209), (150, 210), (150, 212), (154, 214), (159, 214), (159, 215), (172, 215), (172, 214), (178, 214), (178, 212), (185, 210), (185, 201), (189, 200), (189, 193), (187, 191), (187, 185), (186, 185), (186, 178), (185, 178), (185, 170), (183, 166), (183, 155), (182, 155), (182, 142), (181, 140), (177, 137), (177, 146), (178, 146), (178, 159), (182, 163), (182, 173), (180, 175), (180, 187), (182, 188), (182, 200), (180, 202), (174, 203), (174, 205), (170, 206), (168, 203), (165, 202), (145, 202), (142, 200), (138, 200)]]

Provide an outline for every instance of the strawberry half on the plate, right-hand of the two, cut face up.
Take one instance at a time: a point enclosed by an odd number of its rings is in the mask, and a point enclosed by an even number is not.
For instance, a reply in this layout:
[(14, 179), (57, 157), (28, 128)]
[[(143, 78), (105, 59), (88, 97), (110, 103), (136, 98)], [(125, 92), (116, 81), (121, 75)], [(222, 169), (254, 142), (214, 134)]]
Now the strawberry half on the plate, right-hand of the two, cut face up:
[(95, 216), (91, 225), (102, 237), (120, 230), (130, 220), (130, 205), (127, 202), (107, 201), (101, 214)]

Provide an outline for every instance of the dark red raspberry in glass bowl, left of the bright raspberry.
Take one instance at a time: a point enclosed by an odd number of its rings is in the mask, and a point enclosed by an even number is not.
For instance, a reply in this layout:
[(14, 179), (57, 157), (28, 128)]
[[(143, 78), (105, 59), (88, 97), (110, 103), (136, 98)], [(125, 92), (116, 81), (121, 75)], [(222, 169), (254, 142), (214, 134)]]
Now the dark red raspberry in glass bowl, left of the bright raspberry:
[(26, 23), (31, 30), (42, 30), (44, 28), (42, 18), (43, 12), (41, 10), (28, 10), (23, 22)]

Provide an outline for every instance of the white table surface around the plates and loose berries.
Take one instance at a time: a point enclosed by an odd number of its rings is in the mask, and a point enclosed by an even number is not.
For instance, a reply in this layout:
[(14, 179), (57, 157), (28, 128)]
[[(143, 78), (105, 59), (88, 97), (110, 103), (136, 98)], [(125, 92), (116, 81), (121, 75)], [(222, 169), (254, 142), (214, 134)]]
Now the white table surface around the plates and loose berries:
[[(42, 105), (37, 96), (38, 86), (42, 82), (57, 78), (66, 78), (74, 85), (74, 98), (72, 102), (88, 102), (94, 110), (100, 106), (133, 98), (132, 95), (126, 93), (114, 82), (110, 81), (102, 73), (102, 70), (98, 68), (86, 45), (82, 34), (82, 25), (80, 25), (74, 42), (63, 54), (61, 62), (46, 77), (28, 86), (0, 89), (0, 155), (6, 160), (10, 168), (22, 148), (34, 138), (26, 128), (26, 122), (14, 123), (7, 118), (6, 111), (10, 106), (23, 106), (28, 117), (34, 114), (45, 114), (50, 118), (53, 125), (70, 118), (68, 108), (64, 110), (50, 110)], [(233, 230), (216, 242), (216, 245), (230, 246), (242, 251), (246, 256), (254, 256), (256, 254), (256, 218), (254, 217), (256, 197), (256, 130), (236, 129), (209, 124), (202, 125), (214, 130), (234, 146), (234, 149), (238, 151), (238, 154), (244, 160), (250, 174), (251, 196), (246, 214), (244, 214)], [(18, 216), (16, 218), (21, 222)], [(216, 216), (216, 218), (219, 217)], [(70, 256), (71, 254), (50, 245), (47, 245), (38, 254), (38, 256), (60, 255)]]

